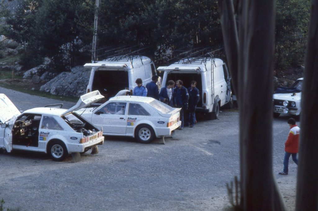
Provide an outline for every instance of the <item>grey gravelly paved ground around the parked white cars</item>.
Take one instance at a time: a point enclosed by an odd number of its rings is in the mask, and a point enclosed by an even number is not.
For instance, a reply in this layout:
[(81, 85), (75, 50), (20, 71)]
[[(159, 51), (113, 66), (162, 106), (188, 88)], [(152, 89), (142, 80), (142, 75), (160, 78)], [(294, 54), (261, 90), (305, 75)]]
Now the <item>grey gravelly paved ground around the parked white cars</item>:
[[(18, 109), (60, 103), (0, 87)], [(74, 103), (63, 102), (65, 108)], [(297, 166), (282, 170), (288, 116), (273, 122), (273, 172), (294, 209)], [(228, 206), (226, 183), (239, 175), (238, 111), (222, 110), (172, 138), (139, 144), (106, 137), (99, 154), (54, 162), (45, 154), (0, 153), (0, 199), (21, 210), (215, 210)]]

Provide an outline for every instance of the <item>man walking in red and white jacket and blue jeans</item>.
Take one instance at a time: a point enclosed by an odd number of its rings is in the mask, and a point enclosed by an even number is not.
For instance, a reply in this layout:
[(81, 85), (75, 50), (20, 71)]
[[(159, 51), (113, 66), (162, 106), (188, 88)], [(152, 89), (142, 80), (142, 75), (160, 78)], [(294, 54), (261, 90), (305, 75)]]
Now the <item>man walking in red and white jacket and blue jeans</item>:
[(298, 140), (300, 128), (296, 125), (296, 121), (293, 118), (287, 121), (290, 130), (288, 133), (288, 138), (285, 142), (285, 157), (284, 157), (284, 169), (278, 174), (287, 175), (288, 174), (288, 162), (289, 157), (292, 155), (292, 159), (298, 165), (297, 153), (298, 153)]

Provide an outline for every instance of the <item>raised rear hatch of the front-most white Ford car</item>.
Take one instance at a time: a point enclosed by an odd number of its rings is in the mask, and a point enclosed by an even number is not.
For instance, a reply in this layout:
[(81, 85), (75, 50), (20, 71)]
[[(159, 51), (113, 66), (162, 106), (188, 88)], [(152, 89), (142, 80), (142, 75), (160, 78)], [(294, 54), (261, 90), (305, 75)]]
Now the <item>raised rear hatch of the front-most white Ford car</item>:
[(61, 116), (65, 116), (69, 113), (72, 113), (74, 111), (77, 111), (81, 108), (85, 108), (100, 99), (104, 98), (103, 95), (100, 94), (98, 90), (93, 91), (93, 92), (88, 92), (82, 96), (80, 96), (79, 101), (77, 101), (76, 105), (74, 105), (72, 108), (68, 109), (66, 112), (62, 113)]

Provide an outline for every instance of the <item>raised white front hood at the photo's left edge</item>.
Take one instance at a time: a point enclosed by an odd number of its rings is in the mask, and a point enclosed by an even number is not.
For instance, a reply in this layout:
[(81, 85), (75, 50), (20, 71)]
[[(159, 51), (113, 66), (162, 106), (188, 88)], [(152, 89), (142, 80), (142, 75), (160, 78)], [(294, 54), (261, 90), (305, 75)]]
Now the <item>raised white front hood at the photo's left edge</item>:
[(17, 107), (5, 95), (0, 94), (0, 121), (2, 123), (9, 121), (12, 117), (17, 117), (21, 114)]

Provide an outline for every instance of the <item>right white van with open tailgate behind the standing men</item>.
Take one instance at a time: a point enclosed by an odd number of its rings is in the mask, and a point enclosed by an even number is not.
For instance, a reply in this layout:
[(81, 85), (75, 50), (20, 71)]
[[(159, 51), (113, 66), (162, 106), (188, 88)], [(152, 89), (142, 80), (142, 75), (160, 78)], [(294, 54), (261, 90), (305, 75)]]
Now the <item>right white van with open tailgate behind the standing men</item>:
[(183, 58), (169, 66), (158, 67), (164, 72), (161, 87), (169, 80), (182, 80), (183, 86), (189, 88), (191, 81), (197, 82), (200, 100), (197, 112), (203, 112), (211, 119), (218, 119), (219, 108), (225, 104), (232, 106), (231, 78), (226, 64), (211, 54), (196, 58)]

